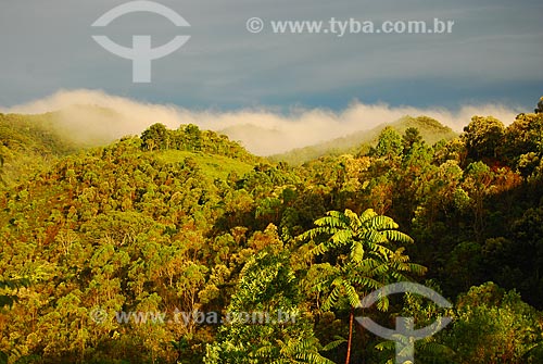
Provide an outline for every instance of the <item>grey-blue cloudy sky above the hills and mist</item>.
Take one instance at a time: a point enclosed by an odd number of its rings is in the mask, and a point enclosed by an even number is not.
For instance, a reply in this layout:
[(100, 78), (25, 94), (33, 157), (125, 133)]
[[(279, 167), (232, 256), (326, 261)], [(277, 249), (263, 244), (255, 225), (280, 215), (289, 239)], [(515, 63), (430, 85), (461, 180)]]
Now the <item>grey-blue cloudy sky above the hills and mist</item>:
[[(458, 128), (469, 122), (467, 110), (494, 110), (510, 118), (532, 111), (543, 96), (541, 0), (160, 0), (190, 26), (176, 27), (149, 12), (125, 14), (103, 28), (91, 26), (126, 2), (0, 0), (0, 111), (30, 112), (40, 101), (45, 111), (96, 97), (94, 102), (174, 109), (210, 128), (238, 117), (241, 125), (267, 121), (276, 129), (298, 123), (299, 134), (315, 134), (290, 148), (362, 128), (343, 123), (353, 110), (367, 127), (399, 113), (432, 111), (450, 115), (444, 118)], [(248, 30), (252, 17), (262, 18), (262, 32)], [(273, 32), (276, 21), (329, 24), (332, 17), (376, 26), (384, 21), (430, 24), (433, 18), (454, 25), (451, 34)], [(190, 39), (152, 61), (152, 81), (138, 84), (132, 62), (100, 47), (93, 35), (124, 47), (131, 47), (135, 35), (151, 36), (152, 47), (178, 35)], [(376, 108), (380, 114), (368, 112)], [(312, 117), (328, 127), (313, 133)], [(274, 118), (282, 122), (274, 124)]]

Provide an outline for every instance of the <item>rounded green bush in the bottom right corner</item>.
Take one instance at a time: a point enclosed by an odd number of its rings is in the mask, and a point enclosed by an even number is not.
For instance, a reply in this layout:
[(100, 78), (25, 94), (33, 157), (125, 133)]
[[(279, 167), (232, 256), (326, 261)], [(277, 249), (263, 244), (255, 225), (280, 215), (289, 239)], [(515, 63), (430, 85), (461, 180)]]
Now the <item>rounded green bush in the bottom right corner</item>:
[(455, 363), (539, 363), (540, 321), (518, 293), (489, 283), (458, 299), (452, 327), (442, 340), (454, 351)]

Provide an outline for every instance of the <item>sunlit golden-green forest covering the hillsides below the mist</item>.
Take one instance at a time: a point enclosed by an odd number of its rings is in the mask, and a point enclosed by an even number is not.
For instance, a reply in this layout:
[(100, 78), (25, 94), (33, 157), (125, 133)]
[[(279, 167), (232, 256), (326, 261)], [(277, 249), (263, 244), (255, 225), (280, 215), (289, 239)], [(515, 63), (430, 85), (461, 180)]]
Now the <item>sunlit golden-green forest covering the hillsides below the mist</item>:
[[(358, 316), (451, 317), (416, 363), (543, 363), (543, 110), (438, 141), (417, 121), (293, 163), (191, 124), (89, 148), (0, 114), (0, 363), (394, 363)], [(397, 281), (452, 307), (359, 306)]]

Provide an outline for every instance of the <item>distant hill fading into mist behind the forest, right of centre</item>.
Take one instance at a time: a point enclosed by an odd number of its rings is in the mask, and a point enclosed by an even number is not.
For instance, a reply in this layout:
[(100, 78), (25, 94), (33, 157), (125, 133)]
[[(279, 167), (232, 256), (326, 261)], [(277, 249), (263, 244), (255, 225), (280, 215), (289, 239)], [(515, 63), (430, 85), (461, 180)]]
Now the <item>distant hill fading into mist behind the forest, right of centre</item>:
[(416, 127), (420, 131), (422, 139), (429, 145), (433, 145), (441, 139), (450, 140), (458, 136), (458, 134), (449, 126), (445, 126), (431, 117), (404, 116), (391, 124), (381, 124), (369, 130), (361, 130), (345, 137), (336, 138), (318, 145), (296, 148), (286, 153), (272, 155), (269, 159), (276, 162), (285, 161), (293, 165), (299, 165), (318, 159), (323, 155), (356, 153), (364, 146), (369, 147), (376, 145), (379, 134), (387, 126), (393, 127), (400, 134), (404, 134), (409, 127)]

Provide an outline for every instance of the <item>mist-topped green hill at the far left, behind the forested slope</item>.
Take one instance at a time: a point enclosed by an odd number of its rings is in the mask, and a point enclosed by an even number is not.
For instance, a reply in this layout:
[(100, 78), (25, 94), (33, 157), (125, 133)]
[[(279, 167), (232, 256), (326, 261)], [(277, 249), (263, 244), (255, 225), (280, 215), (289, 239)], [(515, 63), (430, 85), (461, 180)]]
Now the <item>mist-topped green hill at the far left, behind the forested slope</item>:
[(16, 185), (60, 158), (110, 145), (146, 127), (134, 125), (113, 109), (93, 104), (73, 104), (43, 114), (0, 113), (0, 185)]

